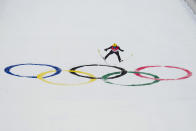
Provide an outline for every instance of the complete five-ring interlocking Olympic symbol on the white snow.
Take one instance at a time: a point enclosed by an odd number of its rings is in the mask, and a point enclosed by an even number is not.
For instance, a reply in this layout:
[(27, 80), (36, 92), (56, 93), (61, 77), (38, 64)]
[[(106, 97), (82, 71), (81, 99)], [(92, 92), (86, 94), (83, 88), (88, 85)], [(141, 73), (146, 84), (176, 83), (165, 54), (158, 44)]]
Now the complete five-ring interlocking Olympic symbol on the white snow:
[[(11, 69), (13, 69), (15, 67), (18, 67), (18, 66), (23, 66), (23, 65), (47, 66), (47, 67), (53, 68), (54, 70), (42, 72), (42, 73), (38, 74), (37, 76), (22, 76), (22, 75), (14, 74), (14, 73), (11, 72)], [(82, 72), (82, 71), (78, 71), (77, 70), (77, 69), (82, 68), (82, 67), (85, 67), (85, 66), (87, 66), (87, 67), (89, 67), (89, 66), (113, 67), (115, 69), (119, 69), (120, 72), (113, 72), (113, 73), (109, 73), (109, 74), (103, 75), (102, 77), (96, 77), (93, 74), (90, 74), (90, 73), (87, 73), (87, 72)], [(175, 78), (175, 79), (162, 79), (162, 78), (159, 78), (157, 75), (154, 75), (154, 74), (150, 74), (150, 73), (146, 73), (146, 72), (140, 72), (143, 69), (146, 69), (146, 68), (154, 68), (154, 67), (165, 67), (165, 68), (179, 69), (179, 70), (184, 71), (186, 73), (186, 75), (183, 76), (183, 77)], [(123, 69), (121, 67), (111, 66), (111, 65), (99, 65), (99, 64), (81, 65), (81, 66), (73, 67), (70, 70), (62, 70), (61, 68), (56, 67), (56, 66), (53, 66), (53, 65), (27, 63), (27, 64), (17, 64), (17, 65), (8, 66), (8, 67), (6, 67), (4, 69), (4, 71), (7, 74), (10, 74), (10, 75), (13, 75), (13, 76), (27, 77), (27, 78), (38, 78), (39, 80), (41, 80), (41, 81), (43, 81), (45, 83), (53, 84), (53, 85), (61, 85), (61, 86), (78, 86), (78, 85), (84, 85), (84, 84), (88, 84), (88, 83), (94, 82), (97, 79), (102, 79), (105, 83), (114, 84), (114, 85), (120, 85), (120, 86), (145, 86), (145, 85), (152, 85), (152, 84), (158, 83), (160, 81), (164, 81), (164, 80), (165, 81), (166, 80), (182, 80), (182, 79), (186, 79), (186, 78), (189, 78), (189, 77), (192, 76), (192, 72), (191, 71), (189, 71), (187, 69), (184, 69), (184, 68), (181, 68), (181, 67), (174, 67), (174, 66), (143, 66), (143, 67), (137, 68), (135, 71), (126, 71), (125, 69)], [(46, 80), (46, 78), (52, 77), (52, 76), (55, 76), (55, 75), (58, 75), (62, 71), (64, 71), (64, 72), (70, 72), (73, 75), (76, 75), (76, 76), (79, 76), (79, 77), (88, 78), (90, 80), (87, 81), (87, 82), (81, 82), (81, 83), (77, 83), (77, 84), (55, 83), (55, 82)], [(47, 76), (47, 74), (49, 74), (49, 73), (53, 73), (53, 74)], [(119, 77), (121, 77), (121, 76), (123, 76), (123, 75), (125, 75), (127, 73), (133, 73), (136, 76), (139, 76), (139, 77), (142, 77), (142, 78), (147, 78), (147, 79), (152, 79), (154, 81), (151, 82), (151, 83), (144, 83), (144, 84), (116, 84), (116, 83), (112, 83), (112, 82), (109, 81), (109, 79), (119, 78)], [(84, 74), (84, 75), (81, 75), (81, 74)], [(113, 76), (113, 75), (115, 75), (115, 76)], [(144, 76), (144, 75), (149, 75), (149, 76), (152, 76), (153, 78), (147, 77), (147, 76)]]

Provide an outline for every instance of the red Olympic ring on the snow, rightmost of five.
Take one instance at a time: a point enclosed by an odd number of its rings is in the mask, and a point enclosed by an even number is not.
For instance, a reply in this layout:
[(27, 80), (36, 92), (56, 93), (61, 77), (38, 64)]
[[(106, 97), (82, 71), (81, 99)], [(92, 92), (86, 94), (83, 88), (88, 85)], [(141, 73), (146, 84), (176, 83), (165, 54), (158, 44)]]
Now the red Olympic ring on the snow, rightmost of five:
[(139, 72), (143, 69), (146, 69), (146, 68), (151, 68), (151, 67), (166, 67), (166, 68), (175, 68), (175, 69), (179, 69), (179, 70), (183, 70), (187, 73), (186, 76), (183, 76), (183, 77), (180, 77), (180, 78), (176, 78), (176, 79), (156, 79), (156, 78), (150, 78), (150, 77), (147, 77), (147, 76), (143, 76), (142, 74), (139, 74), (139, 73), (135, 73), (136, 76), (139, 76), (139, 77), (142, 77), (142, 78), (147, 78), (147, 79), (153, 79), (153, 80), (161, 80), (161, 81), (168, 81), (168, 80), (182, 80), (182, 79), (187, 79), (189, 77), (192, 76), (192, 72), (187, 70), (187, 69), (184, 69), (184, 68), (180, 68), (180, 67), (174, 67), (174, 66), (143, 66), (143, 67), (140, 67), (140, 68), (137, 68), (135, 70), (135, 72)]

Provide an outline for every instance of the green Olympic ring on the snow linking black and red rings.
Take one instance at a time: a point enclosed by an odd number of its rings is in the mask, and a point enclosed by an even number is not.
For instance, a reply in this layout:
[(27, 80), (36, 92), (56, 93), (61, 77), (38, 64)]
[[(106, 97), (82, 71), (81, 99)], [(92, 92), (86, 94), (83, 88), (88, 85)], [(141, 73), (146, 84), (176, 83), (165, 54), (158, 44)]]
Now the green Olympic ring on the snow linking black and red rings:
[[(145, 86), (145, 85), (152, 85), (152, 84), (158, 83), (158, 82), (160, 81), (160, 80), (154, 80), (154, 81), (151, 82), (151, 83), (131, 84), (131, 85), (116, 84), (116, 83), (112, 83), (112, 82), (109, 82), (109, 81), (108, 81), (108, 77), (110, 77), (111, 75), (120, 74), (120, 73), (121, 73), (121, 72), (109, 73), (109, 74), (106, 74), (106, 75), (102, 76), (102, 79), (104, 80), (105, 83), (113, 84), (113, 85), (120, 85), (120, 86)], [(134, 72), (134, 71), (129, 71), (129, 72), (127, 72), (127, 73), (145, 74), (145, 75), (153, 76), (155, 79), (159, 79), (159, 77), (158, 77), (157, 75), (153, 75), (153, 74), (145, 73), (145, 72)]]

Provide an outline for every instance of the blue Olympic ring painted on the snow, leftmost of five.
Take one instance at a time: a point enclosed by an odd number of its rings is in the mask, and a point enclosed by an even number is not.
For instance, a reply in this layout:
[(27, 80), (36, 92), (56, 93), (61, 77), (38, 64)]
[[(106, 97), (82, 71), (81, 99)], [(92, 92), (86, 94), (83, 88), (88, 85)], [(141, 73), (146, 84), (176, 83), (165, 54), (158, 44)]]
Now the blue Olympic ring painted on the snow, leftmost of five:
[(55, 76), (55, 75), (58, 75), (61, 73), (61, 69), (59, 67), (56, 67), (56, 66), (53, 66), (53, 65), (46, 65), (46, 64), (32, 64), (32, 63), (27, 63), (27, 64), (17, 64), (17, 65), (12, 65), (12, 66), (8, 66), (5, 68), (5, 72), (10, 74), (10, 75), (13, 75), (13, 76), (18, 76), (18, 77), (27, 77), (27, 78), (37, 78), (37, 76), (21, 76), (21, 75), (17, 75), (17, 74), (14, 74), (11, 72), (11, 69), (14, 68), (14, 67), (17, 67), (17, 66), (22, 66), (22, 65), (39, 65), (39, 66), (49, 66), (49, 67), (52, 67), (53, 69), (56, 70), (56, 72), (52, 75), (49, 75), (49, 76), (45, 76), (43, 78), (48, 78), (48, 77), (52, 77), (52, 76)]

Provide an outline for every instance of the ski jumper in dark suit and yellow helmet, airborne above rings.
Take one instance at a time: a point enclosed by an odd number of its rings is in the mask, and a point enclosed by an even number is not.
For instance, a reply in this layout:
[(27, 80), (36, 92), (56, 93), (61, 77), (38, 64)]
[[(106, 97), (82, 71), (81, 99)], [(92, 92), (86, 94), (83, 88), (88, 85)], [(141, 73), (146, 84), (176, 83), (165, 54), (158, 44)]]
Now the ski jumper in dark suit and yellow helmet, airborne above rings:
[(112, 46), (106, 48), (105, 51), (107, 51), (107, 50), (109, 50), (109, 49), (111, 49), (111, 51), (104, 57), (105, 60), (106, 60), (106, 59), (108, 58), (108, 56), (110, 56), (111, 54), (116, 54), (117, 57), (118, 57), (119, 62), (122, 62), (122, 61), (123, 61), (123, 60), (121, 60), (121, 58), (120, 58), (119, 50), (122, 51), (122, 52), (123, 52), (124, 50), (120, 49), (120, 47), (119, 47), (116, 43), (114, 43)]

